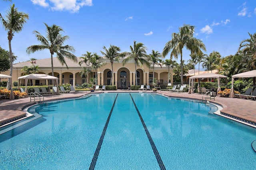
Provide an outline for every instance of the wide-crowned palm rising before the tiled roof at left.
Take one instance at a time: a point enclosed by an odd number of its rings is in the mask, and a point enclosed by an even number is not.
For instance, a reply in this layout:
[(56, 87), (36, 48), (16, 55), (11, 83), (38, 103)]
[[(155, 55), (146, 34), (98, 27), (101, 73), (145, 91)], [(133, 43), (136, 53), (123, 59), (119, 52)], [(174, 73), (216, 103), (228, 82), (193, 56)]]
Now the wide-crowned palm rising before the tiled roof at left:
[(64, 32), (63, 29), (60, 26), (52, 25), (48, 26), (46, 23), (46, 37), (42, 36), (38, 31), (33, 31), (33, 33), (36, 35), (37, 40), (41, 41), (41, 45), (31, 45), (26, 49), (26, 52), (28, 54), (34, 53), (36, 51), (42, 51), (45, 49), (50, 50), (51, 53), (51, 63), (52, 63), (52, 76), (54, 76), (53, 72), (53, 55), (56, 53), (57, 59), (60, 61), (62, 65), (66, 65), (68, 69), (68, 65), (66, 64), (65, 57), (68, 59), (72, 59), (73, 61), (77, 62), (77, 58), (74, 54), (70, 53), (74, 52), (75, 49), (72, 46), (64, 45), (64, 41), (69, 39), (67, 35), (62, 36), (61, 32)]

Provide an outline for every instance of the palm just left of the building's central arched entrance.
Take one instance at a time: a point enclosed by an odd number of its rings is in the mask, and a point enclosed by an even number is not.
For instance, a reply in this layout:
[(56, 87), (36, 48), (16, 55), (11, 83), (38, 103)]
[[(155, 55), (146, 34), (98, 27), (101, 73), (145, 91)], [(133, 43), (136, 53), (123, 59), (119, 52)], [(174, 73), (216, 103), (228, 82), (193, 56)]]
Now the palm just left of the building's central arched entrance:
[(103, 47), (103, 49), (105, 50), (105, 52), (100, 51), (102, 53), (102, 55), (104, 55), (103, 57), (106, 57), (107, 59), (109, 59), (110, 63), (111, 63), (111, 80), (110, 80), (110, 86), (112, 85), (112, 80), (114, 77), (114, 69), (113, 69), (113, 63), (114, 61), (119, 62), (119, 58), (122, 58), (125, 56), (125, 53), (119, 53), (121, 51), (121, 49), (119, 47), (116, 47), (114, 45), (110, 44), (110, 47), (107, 49), (105, 46)]

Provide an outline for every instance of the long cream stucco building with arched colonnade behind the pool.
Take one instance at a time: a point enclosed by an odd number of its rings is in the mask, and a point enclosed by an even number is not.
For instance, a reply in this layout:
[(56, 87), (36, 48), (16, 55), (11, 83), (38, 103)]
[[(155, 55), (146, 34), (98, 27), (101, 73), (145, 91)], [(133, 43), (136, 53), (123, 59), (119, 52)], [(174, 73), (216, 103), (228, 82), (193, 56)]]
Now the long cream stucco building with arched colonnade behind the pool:
[[(85, 67), (85, 64), (81, 66), (78, 64), (79, 61), (82, 61), (80, 57), (77, 58), (78, 62), (74, 62), (70, 59), (66, 59), (66, 64), (68, 65), (68, 69), (66, 65), (63, 65), (58, 61), (56, 57), (53, 58), (54, 63), (54, 75), (58, 77), (58, 84), (69, 83), (73, 85), (81, 85), (84, 82), (88, 82), (90, 78), (95, 78), (95, 71), (91, 69), (92, 73), (89, 74), (88, 77), (82, 76), (79, 74), (82, 67)], [(112, 85), (116, 85), (117, 89), (127, 89), (128, 86), (135, 85), (135, 81), (138, 82), (138, 85), (150, 85), (152, 84), (153, 80), (153, 68), (148, 68), (146, 65), (142, 67), (137, 66), (137, 80), (135, 80), (135, 64), (134, 60), (130, 60), (125, 65), (122, 64), (122, 60), (120, 59), (119, 63), (117, 61), (113, 64), (114, 69), (114, 77), (112, 79)], [(108, 59), (103, 59), (101, 62), (106, 62), (105, 65), (98, 68), (97, 70), (97, 84), (98, 85), (110, 85), (111, 81), (111, 63)], [(41, 74), (48, 74), (52, 75), (52, 67), (51, 67), (51, 59), (41, 59), (36, 61), (26, 61), (22, 63), (13, 64), (13, 71), (12, 71), (12, 81), (18, 81), (18, 77), (24, 75), (24, 71), (22, 68), (24, 66), (31, 66), (32, 63), (35, 66), (38, 66), (40, 71), (38, 73)], [(168, 81), (168, 67), (163, 65), (161, 66), (154, 66), (154, 78), (156, 78), (159, 84), (168, 84), (173, 83), (172, 79), (172, 67), (170, 67), (170, 80)], [(2, 72), (2, 74), (9, 75), (9, 71)], [(24, 84), (25, 82), (21, 82)], [(36, 80), (33, 82), (33, 85), (47, 85), (52, 84), (51, 81), (46, 80)], [(31, 84), (30, 84), (31, 85)]]

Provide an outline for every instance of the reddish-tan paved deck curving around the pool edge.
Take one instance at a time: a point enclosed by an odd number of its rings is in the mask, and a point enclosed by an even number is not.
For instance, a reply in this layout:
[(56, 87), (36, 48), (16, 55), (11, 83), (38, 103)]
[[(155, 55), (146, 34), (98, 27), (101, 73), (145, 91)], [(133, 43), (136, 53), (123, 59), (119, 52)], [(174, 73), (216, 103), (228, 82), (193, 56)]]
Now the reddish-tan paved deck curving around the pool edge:
[[(116, 91), (96, 91), (93, 93), (101, 93), (101, 92), (142, 92), (142, 91), (132, 91), (132, 90), (116, 90)], [(146, 92), (146, 91), (144, 91)], [(147, 91), (152, 92), (152, 91)], [(67, 93), (60, 95), (46, 95), (44, 96), (44, 101), (51, 100), (61, 100), (66, 98), (79, 98), (90, 92), (75, 92), (75, 93)], [(168, 91), (157, 91), (159, 94), (163, 94), (165, 96), (177, 97), (177, 98), (186, 98), (186, 99), (195, 99), (202, 100), (201, 94), (188, 94), (188, 92), (168, 92)], [(245, 123), (252, 127), (256, 127), (256, 101), (246, 100), (240, 98), (222, 98), (215, 97), (215, 100), (208, 99), (207, 101), (213, 102), (214, 104), (218, 104), (223, 107), (221, 110), (221, 115), (227, 117), (229, 119), (233, 119), (239, 121), (241, 123)], [(38, 100), (36, 101), (38, 102)], [(25, 107), (31, 106), (35, 104), (35, 102), (30, 102), (29, 98), (8, 100), (1, 99), (0, 100), (0, 127), (6, 124), (12, 123), (18, 119), (26, 117), (26, 112), (23, 111)]]

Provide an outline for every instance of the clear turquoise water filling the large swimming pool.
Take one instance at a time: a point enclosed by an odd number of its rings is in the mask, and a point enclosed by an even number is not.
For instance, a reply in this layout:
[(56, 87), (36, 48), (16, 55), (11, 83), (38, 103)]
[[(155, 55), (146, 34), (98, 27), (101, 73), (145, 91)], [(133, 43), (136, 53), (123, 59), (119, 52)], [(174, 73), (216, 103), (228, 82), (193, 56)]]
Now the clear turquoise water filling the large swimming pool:
[(0, 135), (0, 169), (256, 169), (256, 129), (210, 109), (148, 93), (36, 105), (42, 117)]

